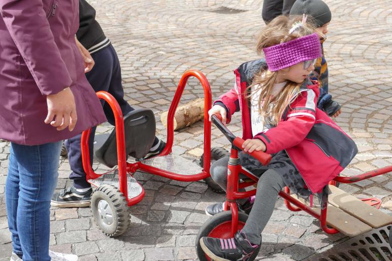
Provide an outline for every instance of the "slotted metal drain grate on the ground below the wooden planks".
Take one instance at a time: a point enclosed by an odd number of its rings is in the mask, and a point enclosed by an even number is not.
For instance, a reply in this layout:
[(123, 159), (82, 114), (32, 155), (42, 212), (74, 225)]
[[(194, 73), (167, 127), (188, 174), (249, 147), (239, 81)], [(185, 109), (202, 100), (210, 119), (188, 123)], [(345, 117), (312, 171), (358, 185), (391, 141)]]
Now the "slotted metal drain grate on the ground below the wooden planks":
[(389, 261), (392, 260), (392, 249), (388, 235), (391, 226), (374, 229), (362, 235), (317, 254), (309, 261)]

